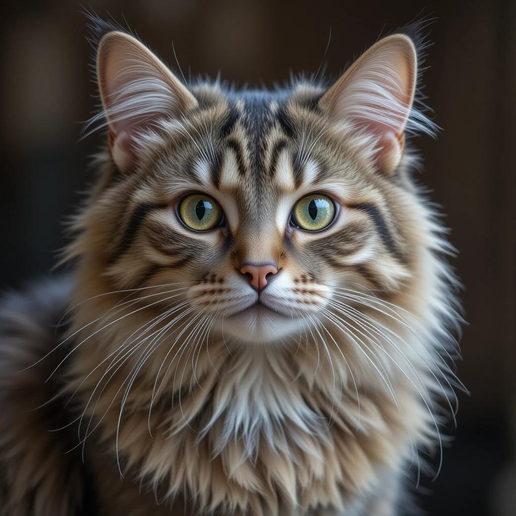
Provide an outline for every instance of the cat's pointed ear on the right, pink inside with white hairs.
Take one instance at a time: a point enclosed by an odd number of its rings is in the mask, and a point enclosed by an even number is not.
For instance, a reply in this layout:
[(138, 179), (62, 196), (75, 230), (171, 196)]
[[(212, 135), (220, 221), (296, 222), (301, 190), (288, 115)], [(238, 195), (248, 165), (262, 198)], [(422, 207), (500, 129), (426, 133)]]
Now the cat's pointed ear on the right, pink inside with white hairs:
[(394, 172), (403, 153), (416, 76), (414, 44), (395, 34), (362, 54), (319, 101), (331, 118), (377, 139), (376, 164), (386, 174)]

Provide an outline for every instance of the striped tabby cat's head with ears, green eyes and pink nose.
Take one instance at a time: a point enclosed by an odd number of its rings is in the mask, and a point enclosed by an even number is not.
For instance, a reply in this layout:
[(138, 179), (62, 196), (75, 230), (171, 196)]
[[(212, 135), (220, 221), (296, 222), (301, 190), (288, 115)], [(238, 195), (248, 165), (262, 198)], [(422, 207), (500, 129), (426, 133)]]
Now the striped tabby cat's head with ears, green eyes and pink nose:
[(186, 86), (118, 30), (96, 65), (108, 157), (83, 229), (111, 290), (160, 285), (160, 307), (264, 343), (299, 336), (344, 289), (388, 297), (414, 274), (405, 136), (433, 126), (413, 109), (408, 36), (330, 88)]

